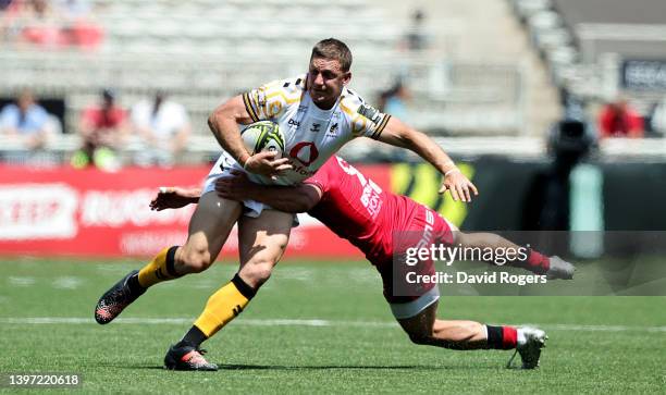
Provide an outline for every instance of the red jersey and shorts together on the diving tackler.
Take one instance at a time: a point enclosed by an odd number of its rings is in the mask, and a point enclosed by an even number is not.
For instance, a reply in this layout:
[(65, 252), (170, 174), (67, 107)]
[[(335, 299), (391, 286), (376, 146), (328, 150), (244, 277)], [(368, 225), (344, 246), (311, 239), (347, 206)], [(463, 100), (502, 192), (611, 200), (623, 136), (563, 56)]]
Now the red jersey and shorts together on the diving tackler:
[[(321, 199), (308, 213), (366, 254), (382, 276), (384, 297), (392, 304), (396, 318), (414, 317), (437, 299), (434, 283), (409, 284), (398, 280), (411, 271), (433, 275), (433, 260), (409, 267), (396, 264), (395, 259), (402, 259), (402, 254), (410, 247), (453, 244), (454, 227), (448, 221), (408, 197), (382, 190), (340, 157), (329, 159), (305, 183), (322, 192)], [(394, 235), (395, 232), (399, 233)], [(430, 297), (422, 299), (424, 295)], [(404, 305), (415, 300), (427, 304)], [(405, 307), (397, 308), (394, 304)]]

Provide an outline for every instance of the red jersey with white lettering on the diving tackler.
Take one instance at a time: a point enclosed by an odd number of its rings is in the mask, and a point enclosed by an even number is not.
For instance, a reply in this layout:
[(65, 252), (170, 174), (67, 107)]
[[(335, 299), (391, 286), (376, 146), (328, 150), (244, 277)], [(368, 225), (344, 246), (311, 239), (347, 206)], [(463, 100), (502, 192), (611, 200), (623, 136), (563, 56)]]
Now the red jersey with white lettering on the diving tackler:
[(373, 263), (390, 260), (393, 232), (407, 231), (420, 203), (382, 190), (340, 157), (333, 157), (308, 178), (321, 200), (308, 213), (342, 238), (348, 239)]

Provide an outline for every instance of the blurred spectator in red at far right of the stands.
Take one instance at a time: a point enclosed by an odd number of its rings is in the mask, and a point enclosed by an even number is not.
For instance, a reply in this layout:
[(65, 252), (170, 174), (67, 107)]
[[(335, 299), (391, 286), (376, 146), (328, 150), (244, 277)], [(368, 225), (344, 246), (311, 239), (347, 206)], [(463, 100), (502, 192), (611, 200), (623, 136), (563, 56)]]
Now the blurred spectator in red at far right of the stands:
[(599, 115), (599, 137), (643, 137), (643, 118), (627, 100), (619, 99), (604, 106)]

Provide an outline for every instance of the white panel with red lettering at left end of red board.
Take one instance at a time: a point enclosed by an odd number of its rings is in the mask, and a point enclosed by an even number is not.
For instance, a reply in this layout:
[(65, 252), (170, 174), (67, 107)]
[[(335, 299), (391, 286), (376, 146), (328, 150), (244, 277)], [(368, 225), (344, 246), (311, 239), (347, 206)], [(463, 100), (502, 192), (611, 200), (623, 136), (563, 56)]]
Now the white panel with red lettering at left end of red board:
[(0, 189), (0, 239), (70, 238), (77, 232), (78, 196), (65, 184)]

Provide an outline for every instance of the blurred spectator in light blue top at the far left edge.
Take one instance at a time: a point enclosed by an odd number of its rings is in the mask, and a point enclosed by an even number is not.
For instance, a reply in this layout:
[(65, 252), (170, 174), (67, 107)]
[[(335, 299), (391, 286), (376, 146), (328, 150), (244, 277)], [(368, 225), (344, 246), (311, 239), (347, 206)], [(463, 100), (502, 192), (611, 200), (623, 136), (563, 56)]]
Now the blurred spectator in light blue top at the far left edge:
[(34, 151), (44, 148), (55, 131), (47, 111), (35, 102), (29, 90), (23, 90), (16, 104), (5, 106), (0, 113), (0, 132), (22, 149)]

